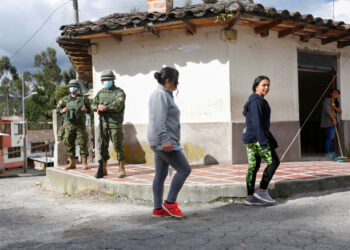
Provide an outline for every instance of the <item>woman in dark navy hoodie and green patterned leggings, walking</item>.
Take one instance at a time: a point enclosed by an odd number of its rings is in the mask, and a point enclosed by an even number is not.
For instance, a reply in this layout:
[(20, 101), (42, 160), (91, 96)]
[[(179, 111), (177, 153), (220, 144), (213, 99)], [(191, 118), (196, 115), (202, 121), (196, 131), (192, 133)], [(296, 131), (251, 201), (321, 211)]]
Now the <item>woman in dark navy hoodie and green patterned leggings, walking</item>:
[[(270, 79), (266, 76), (258, 76), (254, 80), (253, 94), (244, 106), (243, 115), (246, 117), (246, 123), (242, 140), (247, 149), (249, 163), (246, 178), (248, 195), (244, 201), (245, 205), (275, 202), (267, 190), (267, 186), (280, 164), (275, 151), (278, 144), (270, 132), (271, 109), (264, 99), (269, 90)], [(264, 170), (260, 188), (254, 192), (256, 174), (260, 168), (261, 159), (265, 160), (267, 167)]]

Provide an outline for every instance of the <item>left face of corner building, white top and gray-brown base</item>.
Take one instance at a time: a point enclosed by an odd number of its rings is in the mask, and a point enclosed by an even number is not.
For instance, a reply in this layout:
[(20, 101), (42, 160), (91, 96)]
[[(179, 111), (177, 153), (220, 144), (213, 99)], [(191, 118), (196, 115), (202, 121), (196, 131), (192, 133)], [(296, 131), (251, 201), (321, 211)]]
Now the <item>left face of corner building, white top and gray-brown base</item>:
[[(226, 42), (218, 39), (220, 34), (220, 29), (211, 27), (199, 28), (193, 36), (173, 30), (161, 32), (159, 38), (140, 34), (123, 37), (121, 43), (112, 38), (93, 41), (98, 44), (98, 53), (93, 55), (94, 95), (102, 87), (99, 78), (106, 69), (115, 71), (116, 85), (127, 94), (124, 145), (128, 161), (153, 160), (147, 143), (148, 99), (158, 85), (154, 72), (164, 66), (180, 72), (179, 92), (174, 96), (181, 110), (182, 143), (189, 161), (204, 163), (210, 157), (231, 161), (228, 51)], [(218, 138), (225, 144), (215, 144)], [(109, 151), (115, 159), (111, 145)]]

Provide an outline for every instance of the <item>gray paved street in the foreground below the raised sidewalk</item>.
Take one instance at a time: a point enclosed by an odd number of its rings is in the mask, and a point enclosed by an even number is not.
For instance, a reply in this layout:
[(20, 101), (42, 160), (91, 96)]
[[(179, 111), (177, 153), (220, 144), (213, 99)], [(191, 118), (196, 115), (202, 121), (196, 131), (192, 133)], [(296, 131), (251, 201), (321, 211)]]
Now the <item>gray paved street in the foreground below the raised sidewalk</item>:
[(101, 194), (67, 197), (45, 177), (0, 180), (0, 249), (349, 249), (350, 190), (278, 200), (181, 205), (182, 219), (151, 204)]

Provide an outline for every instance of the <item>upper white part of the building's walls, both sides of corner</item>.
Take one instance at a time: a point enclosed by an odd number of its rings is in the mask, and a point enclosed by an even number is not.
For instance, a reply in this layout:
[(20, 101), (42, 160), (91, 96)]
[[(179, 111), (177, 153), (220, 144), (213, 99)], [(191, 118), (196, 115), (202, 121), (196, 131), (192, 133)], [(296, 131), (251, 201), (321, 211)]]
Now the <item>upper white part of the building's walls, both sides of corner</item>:
[[(271, 79), (266, 96), (273, 110), (271, 120), (299, 121), (298, 50), (339, 54), (349, 57), (349, 48), (337, 49), (336, 42), (326, 46), (319, 39), (300, 42), (299, 36), (278, 38), (278, 33), (262, 38), (245, 26), (235, 26), (237, 41), (222, 41), (222, 27), (199, 28), (194, 36), (184, 30), (162, 31), (160, 38), (150, 33), (97, 39), (98, 53), (93, 55), (94, 95), (102, 87), (100, 74), (112, 69), (117, 86), (127, 94), (125, 123), (148, 121), (148, 98), (157, 83), (155, 71), (163, 66), (180, 71), (179, 94), (175, 97), (184, 123), (244, 122), (242, 108), (251, 94), (253, 80), (260, 74)], [(346, 53), (347, 51), (347, 53)], [(341, 64), (342, 107), (350, 107), (350, 60)], [(348, 69), (348, 70), (347, 70)], [(350, 92), (349, 92), (350, 93)], [(345, 108), (346, 109), (346, 108)], [(343, 119), (350, 119), (344, 110)]]

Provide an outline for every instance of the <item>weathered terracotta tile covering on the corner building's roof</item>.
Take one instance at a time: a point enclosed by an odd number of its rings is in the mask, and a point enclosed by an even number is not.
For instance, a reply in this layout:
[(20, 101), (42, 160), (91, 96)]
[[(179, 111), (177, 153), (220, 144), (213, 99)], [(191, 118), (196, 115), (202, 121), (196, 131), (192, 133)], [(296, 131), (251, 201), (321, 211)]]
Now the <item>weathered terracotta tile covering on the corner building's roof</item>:
[(122, 30), (144, 26), (152, 22), (153, 24), (171, 22), (183, 19), (217, 17), (221, 13), (236, 12), (238, 9), (241, 13), (253, 14), (259, 17), (280, 18), (283, 20), (297, 21), (305, 24), (313, 24), (316, 26), (324, 26), (330, 29), (348, 30), (349, 25), (344, 22), (336, 22), (331, 19), (322, 19), (314, 17), (311, 14), (302, 15), (299, 12), (289, 12), (288, 10), (276, 10), (272, 7), (264, 7), (257, 3), (243, 3), (241, 1), (231, 1), (215, 4), (198, 4), (188, 7), (175, 8), (168, 13), (137, 13), (137, 14), (120, 14), (115, 13), (106, 17), (102, 17), (97, 21), (86, 21), (78, 25), (61, 26), (62, 36), (71, 37), (79, 35), (88, 35), (111, 30)]

